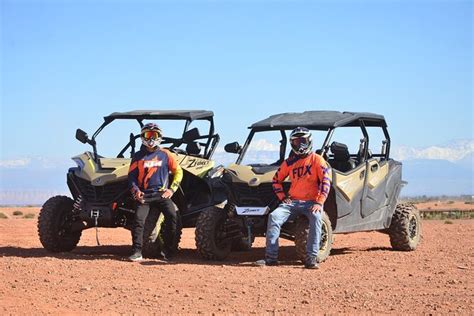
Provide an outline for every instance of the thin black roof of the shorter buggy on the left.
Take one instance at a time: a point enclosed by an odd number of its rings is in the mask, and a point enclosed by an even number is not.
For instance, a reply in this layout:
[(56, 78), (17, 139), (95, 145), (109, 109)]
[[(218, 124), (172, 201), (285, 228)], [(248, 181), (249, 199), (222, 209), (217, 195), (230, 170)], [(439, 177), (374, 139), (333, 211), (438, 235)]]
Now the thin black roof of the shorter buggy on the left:
[(204, 110), (137, 110), (114, 112), (104, 117), (105, 121), (115, 119), (162, 119), (162, 120), (209, 120), (214, 116), (212, 111)]

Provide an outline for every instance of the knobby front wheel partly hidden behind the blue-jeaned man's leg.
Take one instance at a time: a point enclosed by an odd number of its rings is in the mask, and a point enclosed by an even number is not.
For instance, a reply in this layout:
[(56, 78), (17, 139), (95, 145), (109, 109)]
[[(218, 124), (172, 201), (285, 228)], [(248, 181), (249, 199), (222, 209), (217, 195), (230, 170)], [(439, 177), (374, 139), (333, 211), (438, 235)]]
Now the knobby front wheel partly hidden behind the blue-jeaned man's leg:
[[(331, 220), (326, 212), (321, 214), (321, 241), (319, 244), (319, 251), (317, 256), (318, 262), (323, 262), (327, 259), (332, 249), (333, 233)], [(308, 240), (309, 222), (306, 216), (298, 217), (296, 221), (295, 246), (296, 254), (301, 262), (306, 261), (306, 242)]]

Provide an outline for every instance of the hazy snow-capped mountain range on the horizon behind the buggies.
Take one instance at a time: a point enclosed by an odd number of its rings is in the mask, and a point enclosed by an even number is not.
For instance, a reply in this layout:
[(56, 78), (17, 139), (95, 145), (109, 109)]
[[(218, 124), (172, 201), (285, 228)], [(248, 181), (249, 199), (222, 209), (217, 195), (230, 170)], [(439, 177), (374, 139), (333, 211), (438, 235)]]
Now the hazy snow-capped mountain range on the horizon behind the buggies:
[[(264, 142), (249, 149), (248, 155), (262, 162), (275, 157), (275, 148)], [(416, 148), (392, 148), (392, 157), (403, 162), (403, 179), (408, 185), (403, 196), (473, 195), (474, 140)], [(214, 160), (224, 166), (237, 155), (219, 148)], [(68, 195), (66, 172), (74, 166), (70, 158), (19, 157), (0, 160), (0, 204), (42, 204), (50, 196)]]

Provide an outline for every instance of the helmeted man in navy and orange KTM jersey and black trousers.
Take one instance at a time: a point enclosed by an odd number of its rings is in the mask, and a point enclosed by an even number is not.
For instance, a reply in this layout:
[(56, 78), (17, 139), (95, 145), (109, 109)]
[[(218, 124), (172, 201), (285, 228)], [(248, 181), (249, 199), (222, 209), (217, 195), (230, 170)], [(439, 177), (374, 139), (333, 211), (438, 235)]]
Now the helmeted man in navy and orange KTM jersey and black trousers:
[[(138, 203), (132, 228), (132, 255), (129, 259), (143, 259), (143, 229), (150, 211), (161, 211), (165, 217), (165, 247), (162, 255), (167, 259), (174, 250), (177, 222), (176, 206), (171, 197), (179, 187), (183, 171), (171, 153), (159, 147), (163, 133), (158, 125), (144, 125), (140, 136), (143, 146), (133, 156), (128, 171), (130, 190)], [(173, 181), (168, 185), (170, 172), (173, 174)]]

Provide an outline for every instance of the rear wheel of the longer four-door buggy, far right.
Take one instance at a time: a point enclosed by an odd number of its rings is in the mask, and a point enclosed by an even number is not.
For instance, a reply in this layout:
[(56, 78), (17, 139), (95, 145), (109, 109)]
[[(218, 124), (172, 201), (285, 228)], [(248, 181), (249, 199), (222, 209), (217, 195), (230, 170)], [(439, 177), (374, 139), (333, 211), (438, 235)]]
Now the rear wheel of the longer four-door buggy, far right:
[(393, 249), (415, 250), (421, 240), (421, 217), (417, 208), (411, 204), (397, 205), (388, 234)]

